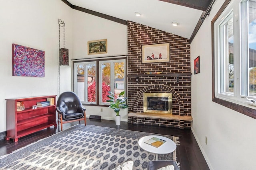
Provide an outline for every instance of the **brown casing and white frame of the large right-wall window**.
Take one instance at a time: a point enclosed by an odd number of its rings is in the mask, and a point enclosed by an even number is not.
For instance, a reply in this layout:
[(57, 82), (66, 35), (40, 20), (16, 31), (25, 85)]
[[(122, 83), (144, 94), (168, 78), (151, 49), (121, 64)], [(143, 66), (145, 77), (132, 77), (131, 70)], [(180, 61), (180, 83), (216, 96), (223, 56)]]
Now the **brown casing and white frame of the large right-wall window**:
[[(220, 94), (220, 84), (219, 84), (219, 77), (220, 77), (220, 71), (219, 71), (219, 68), (220, 68), (220, 63), (218, 63), (219, 59), (217, 59), (216, 55), (218, 55), (218, 49), (220, 49), (220, 46), (219, 46), (219, 43), (216, 43), (216, 36), (219, 37), (218, 35), (218, 31), (217, 31), (217, 27), (216, 27), (216, 21), (218, 21), (219, 18), (222, 18), (223, 16), (227, 16), (227, 15), (224, 15), (224, 14), (228, 14), (230, 11), (231, 11), (231, 6), (236, 6), (236, 5), (239, 5), (239, 8), (236, 8), (233, 9), (233, 12), (237, 12), (236, 10), (239, 10), (239, 14), (240, 14), (240, 11), (241, 11), (241, 8), (240, 8), (240, 2), (239, 4), (232, 4), (230, 2), (234, 2), (234, 0), (226, 0), (224, 2), (224, 4), (221, 6), (220, 10), (217, 12), (216, 16), (214, 16), (212, 22), (211, 22), (211, 27), (212, 27), (212, 101), (213, 102), (216, 102), (222, 106), (225, 106), (225, 107), (228, 107), (230, 109), (233, 109), (235, 111), (238, 111), (244, 115), (248, 115), (249, 117), (252, 117), (254, 119), (256, 119), (256, 107), (255, 105), (253, 106), (252, 104), (249, 104), (248, 102), (246, 102), (246, 99), (245, 97), (243, 98), (240, 91), (242, 91), (242, 88), (241, 88), (241, 80), (240, 80), (240, 74), (241, 74), (241, 64), (240, 62), (241, 59), (240, 59), (240, 56), (238, 57), (238, 61), (234, 59), (234, 64), (235, 62), (238, 62), (236, 63), (236, 66), (238, 66), (239, 68), (234, 70), (234, 81), (239, 81), (236, 82), (236, 85), (238, 84), (239, 86), (236, 87), (236, 89), (234, 88), (234, 97), (232, 96), (228, 96), (228, 95), (221, 95)], [(235, 1), (234, 3), (236, 3), (237, 1)], [(238, 15), (239, 16), (239, 15)], [(237, 20), (237, 18), (233, 18), (233, 20)], [(241, 26), (240, 26), (240, 16), (238, 17), (238, 31), (239, 32), (236, 32), (236, 35), (237, 33), (239, 34), (239, 39), (241, 38), (241, 33), (240, 33), (240, 29), (241, 29)], [(220, 23), (220, 22), (219, 22)], [(233, 23), (234, 24), (234, 23)], [(235, 27), (233, 25), (233, 27)], [(235, 29), (234, 29), (235, 31)], [(235, 35), (235, 33), (234, 33)], [(235, 36), (234, 36), (234, 43), (239, 43), (240, 40), (239, 39), (235, 39)], [(237, 44), (236, 44), (237, 45)], [(241, 47), (240, 47), (240, 44), (238, 44), (239, 48), (236, 49), (238, 52), (238, 55), (241, 55)], [(238, 47), (236, 46), (236, 47)], [(234, 49), (235, 50), (235, 49)], [(235, 57), (234, 57), (235, 58)], [(235, 84), (235, 82), (234, 82)], [(239, 95), (239, 97), (241, 96), (241, 98), (238, 98), (238, 96), (236, 96), (236, 94)], [(235, 99), (236, 98), (236, 99)]]

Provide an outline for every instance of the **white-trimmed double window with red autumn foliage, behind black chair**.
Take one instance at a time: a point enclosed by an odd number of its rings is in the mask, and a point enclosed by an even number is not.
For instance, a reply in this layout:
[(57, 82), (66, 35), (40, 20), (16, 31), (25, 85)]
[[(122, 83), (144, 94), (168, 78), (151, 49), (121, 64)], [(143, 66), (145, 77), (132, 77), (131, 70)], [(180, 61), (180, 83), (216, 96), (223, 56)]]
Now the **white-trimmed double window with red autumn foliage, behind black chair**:
[(126, 59), (74, 62), (74, 92), (83, 104), (109, 105), (108, 92), (126, 88)]

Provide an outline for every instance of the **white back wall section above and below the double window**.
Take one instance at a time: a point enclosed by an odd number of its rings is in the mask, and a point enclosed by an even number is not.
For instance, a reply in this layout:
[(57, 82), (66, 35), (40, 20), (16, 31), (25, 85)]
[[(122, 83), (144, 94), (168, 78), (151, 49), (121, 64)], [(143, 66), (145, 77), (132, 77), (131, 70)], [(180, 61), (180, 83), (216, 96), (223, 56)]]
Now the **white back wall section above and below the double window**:
[[(73, 56), (72, 59), (90, 59), (127, 55), (127, 25), (99, 18), (77, 10), (73, 16)], [(107, 53), (88, 55), (87, 42), (107, 39)], [(125, 57), (125, 56), (123, 56)], [(104, 58), (106, 59), (106, 58)], [(108, 107), (85, 106), (86, 117), (101, 115), (102, 119), (114, 120), (115, 112)], [(102, 108), (102, 112), (100, 109)], [(121, 121), (128, 121), (128, 109), (121, 109)]]

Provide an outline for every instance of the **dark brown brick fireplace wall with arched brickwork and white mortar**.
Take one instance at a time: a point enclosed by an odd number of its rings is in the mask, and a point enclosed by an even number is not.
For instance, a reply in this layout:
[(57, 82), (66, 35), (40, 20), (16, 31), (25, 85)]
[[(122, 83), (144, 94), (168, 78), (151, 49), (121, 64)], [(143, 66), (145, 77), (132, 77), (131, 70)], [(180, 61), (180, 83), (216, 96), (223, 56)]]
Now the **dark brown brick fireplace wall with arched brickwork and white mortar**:
[[(142, 63), (142, 45), (158, 43), (170, 43), (170, 62)], [(128, 122), (190, 128), (192, 74), (189, 39), (128, 21), (127, 62)], [(144, 113), (143, 93), (171, 93), (172, 114), (159, 116)]]

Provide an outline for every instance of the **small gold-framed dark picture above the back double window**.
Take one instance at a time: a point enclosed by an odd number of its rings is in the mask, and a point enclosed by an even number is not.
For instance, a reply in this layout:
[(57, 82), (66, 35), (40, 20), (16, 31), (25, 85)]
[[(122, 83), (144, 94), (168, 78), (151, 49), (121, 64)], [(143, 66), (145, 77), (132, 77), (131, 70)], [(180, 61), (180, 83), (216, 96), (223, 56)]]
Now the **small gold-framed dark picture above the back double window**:
[(107, 39), (88, 41), (88, 55), (107, 53)]

